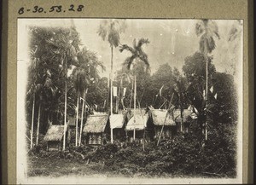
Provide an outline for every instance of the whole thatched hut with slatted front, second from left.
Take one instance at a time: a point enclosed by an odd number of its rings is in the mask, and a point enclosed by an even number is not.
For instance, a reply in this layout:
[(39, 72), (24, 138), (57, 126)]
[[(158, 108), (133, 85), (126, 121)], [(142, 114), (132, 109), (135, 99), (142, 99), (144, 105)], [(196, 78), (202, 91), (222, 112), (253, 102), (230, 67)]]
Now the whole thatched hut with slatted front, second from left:
[(104, 144), (107, 141), (106, 135), (109, 135), (109, 131), (108, 113), (96, 113), (87, 117), (83, 130), (87, 144)]

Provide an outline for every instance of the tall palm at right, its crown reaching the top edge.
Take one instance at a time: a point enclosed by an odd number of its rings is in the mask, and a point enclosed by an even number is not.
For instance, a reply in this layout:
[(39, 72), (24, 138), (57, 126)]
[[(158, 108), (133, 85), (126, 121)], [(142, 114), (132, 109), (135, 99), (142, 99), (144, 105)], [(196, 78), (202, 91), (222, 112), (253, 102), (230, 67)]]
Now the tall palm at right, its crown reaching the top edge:
[[(195, 25), (195, 32), (197, 37), (200, 37), (199, 49), (202, 54), (205, 56), (206, 65), (206, 110), (207, 110), (207, 101), (208, 101), (208, 54), (212, 53), (212, 50), (216, 48), (214, 38), (219, 39), (218, 35), (218, 26), (214, 20), (200, 20)], [(207, 122), (205, 125), (206, 131), (206, 140), (207, 140)]]

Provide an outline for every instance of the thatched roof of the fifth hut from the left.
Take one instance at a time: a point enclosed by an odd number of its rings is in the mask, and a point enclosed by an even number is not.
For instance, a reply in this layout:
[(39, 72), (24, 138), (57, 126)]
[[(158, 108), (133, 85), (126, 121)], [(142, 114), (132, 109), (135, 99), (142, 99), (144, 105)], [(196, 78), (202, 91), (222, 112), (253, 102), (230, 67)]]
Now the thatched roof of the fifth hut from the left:
[[(172, 119), (172, 114), (167, 113), (166, 109), (150, 109), (150, 113), (153, 119), (154, 125), (166, 125), (166, 126), (175, 126), (176, 123)], [(167, 117), (166, 117), (167, 113)], [(166, 122), (165, 122), (166, 119)]]

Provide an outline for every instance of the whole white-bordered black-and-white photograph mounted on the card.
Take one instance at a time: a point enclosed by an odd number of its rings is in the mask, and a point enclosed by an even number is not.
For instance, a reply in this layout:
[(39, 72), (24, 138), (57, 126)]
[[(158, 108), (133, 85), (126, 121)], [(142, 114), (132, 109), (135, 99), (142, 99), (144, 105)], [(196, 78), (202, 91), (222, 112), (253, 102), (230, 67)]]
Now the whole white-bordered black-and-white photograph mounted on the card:
[(243, 20), (17, 24), (17, 182), (241, 183)]

